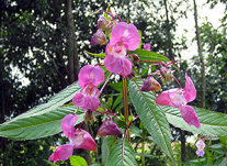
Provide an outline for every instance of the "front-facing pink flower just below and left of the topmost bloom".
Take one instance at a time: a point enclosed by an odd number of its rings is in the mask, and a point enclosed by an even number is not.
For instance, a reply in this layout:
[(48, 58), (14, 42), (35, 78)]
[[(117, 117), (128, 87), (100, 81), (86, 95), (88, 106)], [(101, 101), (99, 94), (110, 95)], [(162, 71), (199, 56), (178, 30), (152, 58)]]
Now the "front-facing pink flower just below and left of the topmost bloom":
[(99, 66), (87, 65), (80, 69), (78, 85), (82, 88), (72, 98), (72, 103), (83, 110), (97, 110), (100, 91), (97, 88), (104, 80), (104, 71)]

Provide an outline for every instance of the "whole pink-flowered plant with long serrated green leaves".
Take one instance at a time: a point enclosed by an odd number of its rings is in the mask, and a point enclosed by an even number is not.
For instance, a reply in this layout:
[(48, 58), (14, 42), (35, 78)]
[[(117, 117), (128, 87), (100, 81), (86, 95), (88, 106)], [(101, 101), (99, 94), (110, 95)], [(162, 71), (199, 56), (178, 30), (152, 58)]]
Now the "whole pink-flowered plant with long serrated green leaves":
[[(103, 58), (102, 63), (84, 65), (76, 84), (55, 95), (49, 102), (3, 123), (0, 126), (1, 136), (33, 140), (63, 131), (68, 143), (58, 146), (49, 156), (48, 161), (54, 163), (67, 161), (76, 148), (97, 152), (100, 148), (97, 143), (102, 139), (105, 141), (102, 148), (107, 150), (104, 164), (132, 166), (137, 165), (130, 145), (135, 135), (132, 129), (137, 128), (134, 124), (138, 121), (173, 163), (169, 124), (202, 135), (226, 135), (226, 114), (188, 104), (196, 99), (196, 89), (188, 74), (185, 86), (181, 87), (174, 76), (173, 59), (152, 52), (148, 43), (141, 48), (141, 34), (133, 23), (122, 21), (111, 11), (101, 12), (104, 14), (98, 20), (98, 30), (91, 36), (90, 44), (105, 46), (105, 52), (87, 53)], [(111, 107), (103, 95), (110, 81), (121, 85), (115, 88), (118, 93)], [(173, 81), (178, 88), (162, 90)], [(116, 106), (122, 107), (116, 109)], [(102, 122), (95, 124), (98, 130), (94, 135), (82, 126), (94, 123), (97, 117)], [(114, 139), (107, 145), (106, 137), (111, 136)], [(145, 139), (141, 136), (139, 140), (143, 147)], [(202, 156), (203, 144), (197, 144), (197, 147), (196, 154)]]

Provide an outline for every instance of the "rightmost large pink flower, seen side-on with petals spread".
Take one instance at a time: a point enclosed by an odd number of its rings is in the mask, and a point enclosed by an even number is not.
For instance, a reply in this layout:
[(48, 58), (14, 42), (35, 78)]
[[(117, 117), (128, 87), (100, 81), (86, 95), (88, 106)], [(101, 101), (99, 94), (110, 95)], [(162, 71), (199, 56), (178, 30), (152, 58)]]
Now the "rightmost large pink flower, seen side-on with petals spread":
[(185, 74), (185, 87), (184, 89), (175, 88), (161, 92), (156, 103), (162, 106), (171, 106), (181, 110), (181, 115), (189, 125), (201, 128), (201, 123), (197, 119), (197, 114), (193, 107), (186, 106), (188, 102), (193, 101), (196, 98), (196, 89), (192, 82), (192, 79)]

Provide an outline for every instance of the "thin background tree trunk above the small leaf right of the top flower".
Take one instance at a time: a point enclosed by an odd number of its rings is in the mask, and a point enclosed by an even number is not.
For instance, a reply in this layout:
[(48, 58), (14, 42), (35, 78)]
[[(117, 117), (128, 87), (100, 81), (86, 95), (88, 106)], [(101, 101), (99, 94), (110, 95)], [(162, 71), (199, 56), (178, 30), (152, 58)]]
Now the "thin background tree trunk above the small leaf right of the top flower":
[(172, 40), (171, 40), (171, 33), (170, 33), (170, 21), (169, 21), (169, 11), (168, 11), (168, 7), (167, 7), (167, 0), (163, 0), (164, 2), (164, 10), (166, 10), (166, 33), (167, 33), (167, 49), (168, 49), (168, 57), (170, 59), (173, 59), (173, 55), (172, 55)]

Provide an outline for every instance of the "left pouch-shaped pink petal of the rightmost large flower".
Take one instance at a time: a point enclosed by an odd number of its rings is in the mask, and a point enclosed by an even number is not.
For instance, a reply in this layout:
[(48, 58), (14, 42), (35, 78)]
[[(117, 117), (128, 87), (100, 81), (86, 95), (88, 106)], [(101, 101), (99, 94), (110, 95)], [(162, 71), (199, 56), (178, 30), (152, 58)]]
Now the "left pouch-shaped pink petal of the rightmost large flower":
[(178, 89), (170, 89), (170, 90), (166, 90), (166, 91), (159, 93), (159, 96), (156, 98), (156, 103), (161, 104), (161, 106), (175, 107), (172, 103), (172, 100), (170, 99), (170, 95), (174, 95), (177, 91), (178, 91)]

